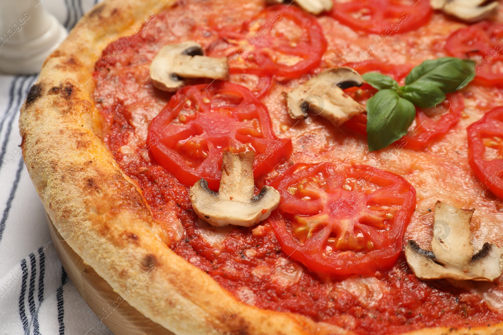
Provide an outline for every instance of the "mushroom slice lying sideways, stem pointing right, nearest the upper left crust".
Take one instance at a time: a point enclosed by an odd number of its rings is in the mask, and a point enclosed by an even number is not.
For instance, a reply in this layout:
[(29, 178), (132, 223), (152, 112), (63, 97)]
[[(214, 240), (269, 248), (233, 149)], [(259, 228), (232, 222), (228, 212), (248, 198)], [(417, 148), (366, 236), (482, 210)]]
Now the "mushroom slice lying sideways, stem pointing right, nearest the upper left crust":
[(182, 78), (229, 79), (226, 57), (204, 56), (197, 42), (187, 41), (163, 46), (150, 64), (150, 78), (158, 89), (175, 92), (184, 85)]

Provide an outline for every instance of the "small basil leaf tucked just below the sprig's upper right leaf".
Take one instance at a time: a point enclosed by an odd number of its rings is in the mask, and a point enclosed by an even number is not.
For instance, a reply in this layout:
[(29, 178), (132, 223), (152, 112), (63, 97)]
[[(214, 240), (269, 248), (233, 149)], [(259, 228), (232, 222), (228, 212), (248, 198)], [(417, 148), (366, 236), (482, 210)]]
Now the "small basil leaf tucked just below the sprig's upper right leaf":
[(402, 98), (421, 108), (433, 107), (445, 99), (445, 93), (436, 84), (429, 81), (416, 81), (402, 86), (398, 93)]

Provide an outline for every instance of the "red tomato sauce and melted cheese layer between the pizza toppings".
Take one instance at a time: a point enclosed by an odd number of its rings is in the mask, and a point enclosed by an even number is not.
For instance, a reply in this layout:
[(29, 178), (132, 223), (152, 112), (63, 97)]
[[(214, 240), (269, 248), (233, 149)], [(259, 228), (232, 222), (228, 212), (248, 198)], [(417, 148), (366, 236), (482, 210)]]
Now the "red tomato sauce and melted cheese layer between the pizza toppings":
[[(137, 36), (111, 43), (96, 64), (94, 99), (103, 118), (104, 141), (142, 189), (154, 219), (165, 232), (165, 242), (246, 304), (301, 313), (362, 335), (401, 333), (437, 324), (464, 329), (503, 320), (497, 308), (503, 297), (501, 279), (477, 287), (461, 287), (444, 280), (420, 281), (402, 254), (392, 269), (378, 272), (375, 277), (334, 281), (309, 273), (291, 261), (267, 221), (250, 229), (221, 229), (217, 234), (198, 221), (188, 187), (158, 165), (146, 145), (149, 123), (172, 95), (153, 88), (148, 64), (164, 44), (194, 40), (207, 49), (218, 38), (215, 27), (241, 27), (265, 7), (259, 0), (236, 0), (233, 6), (227, 5), (224, 0), (180, 1), (151, 17)], [(501, 16), (498, 14), (499, 20)], [(425, 59), (445, 56), (446, 38), (465, 26), (437, 13), (416, 31), (380, 36), (354, 31), (329, 16), (317, 20), (327, 40), (327, 51), (313, 73), (368, 59), (414, 66)], [(289, 28), (279, 20), (274, 29), (288, 32)], [(417, 208), (404, 240), (413, 239), (428, 247), (431, 209), (442, 200), (476, 208), (472, 220), (476, 249), (484, 242), (503, 246), (499, 227), (503, 205), (484, 190), (471, 171), (465, 131), (486, 111), (503, 105), (503, 91), (476, 85), (463, 89), (466, 108), (460, 123), (424, 150), (389, 147), (369, 153), (366, 140), (356, 133), (334, 128), (317, 117), (305, 121), (288, 117), (281, 92), (307, 78), (275, 77), (270, 91), (261, 98), (269, 109), (274, 132), (280, 138), (291, 138), (293, 144), (290, 159), (263, 181), (269, 182), (293, 163), (338, 162), (341, 168), (371, 165), (402, 175), (416, 189)], [(260, 85), (260, 78), (253, 74), (232, 74), (231, 81), (252, 91)], [(494, 297), (491, 303), (475, 293), (481, 289)]]

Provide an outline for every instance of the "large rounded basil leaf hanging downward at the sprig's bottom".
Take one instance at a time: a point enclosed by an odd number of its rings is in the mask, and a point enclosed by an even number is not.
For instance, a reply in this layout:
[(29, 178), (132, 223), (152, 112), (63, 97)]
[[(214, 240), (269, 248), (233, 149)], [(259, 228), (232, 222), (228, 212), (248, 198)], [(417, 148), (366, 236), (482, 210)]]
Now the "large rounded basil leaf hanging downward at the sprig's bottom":
[(369, 151), (387, 147), (407, 134), (414, 121), (415, 107), (392, 89), (383, 89), (367, 101)]

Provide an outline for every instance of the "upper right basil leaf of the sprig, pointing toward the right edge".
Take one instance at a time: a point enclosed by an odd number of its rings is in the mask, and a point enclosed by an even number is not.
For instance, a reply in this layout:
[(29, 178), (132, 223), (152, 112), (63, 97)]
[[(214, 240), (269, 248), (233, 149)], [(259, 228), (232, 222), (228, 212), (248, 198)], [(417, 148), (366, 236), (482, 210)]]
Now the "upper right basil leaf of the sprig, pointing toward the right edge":
[(474, 61), (443, 57), (426, 60), (414, 67), (405, 78), (405, 84), (431, 82), (439, 86), (444, 93), (450, 93), (465, 87), (474, 77)]

